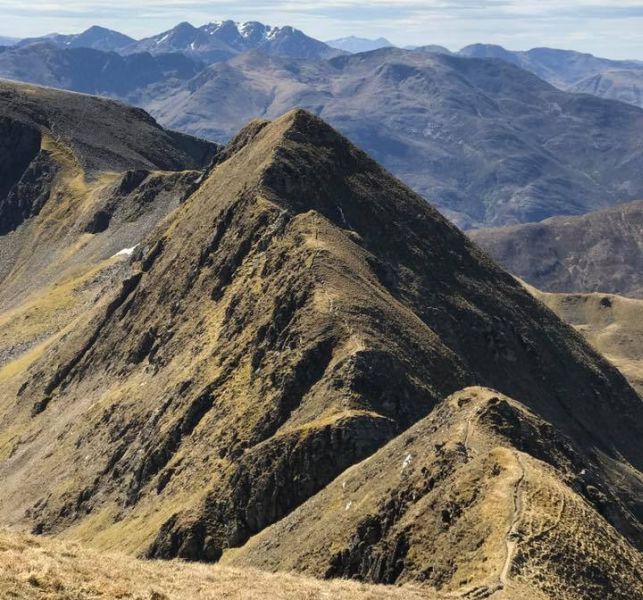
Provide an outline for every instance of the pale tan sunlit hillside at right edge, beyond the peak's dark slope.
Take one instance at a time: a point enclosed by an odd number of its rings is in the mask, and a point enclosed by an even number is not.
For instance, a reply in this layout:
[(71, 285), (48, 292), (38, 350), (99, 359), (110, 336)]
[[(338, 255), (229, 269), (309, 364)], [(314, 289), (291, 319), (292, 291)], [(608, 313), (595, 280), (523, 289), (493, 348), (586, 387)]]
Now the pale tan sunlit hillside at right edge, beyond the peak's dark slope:
[(643, 396), (643, 300), (528, 289), (618, 367)]

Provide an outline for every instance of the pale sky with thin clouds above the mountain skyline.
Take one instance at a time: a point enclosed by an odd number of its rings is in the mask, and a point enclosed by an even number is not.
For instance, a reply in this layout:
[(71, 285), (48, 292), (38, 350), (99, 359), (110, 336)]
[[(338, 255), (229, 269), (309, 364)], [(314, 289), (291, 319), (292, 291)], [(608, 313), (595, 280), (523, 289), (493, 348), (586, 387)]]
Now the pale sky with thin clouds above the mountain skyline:
[(549, 46), (643, 60), (641, 0), (0, 0), (0, 35), (14, 37), (97, 24), (140, 38), (180, 21), (222, 19), (293, 25), (322, 40), (353, 34), (452, 50), (475, 42)]

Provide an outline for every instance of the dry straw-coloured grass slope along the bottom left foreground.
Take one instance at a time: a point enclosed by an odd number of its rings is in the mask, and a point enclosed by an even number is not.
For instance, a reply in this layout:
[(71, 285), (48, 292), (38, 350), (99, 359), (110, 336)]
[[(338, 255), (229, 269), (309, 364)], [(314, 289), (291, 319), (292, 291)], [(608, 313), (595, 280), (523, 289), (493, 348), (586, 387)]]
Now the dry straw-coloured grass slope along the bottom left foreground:
[(71, 542), (0, 531), (0, 598), (85, 600), (413, 600), (411, 588), (102, 554)]

